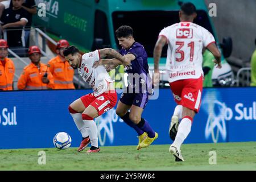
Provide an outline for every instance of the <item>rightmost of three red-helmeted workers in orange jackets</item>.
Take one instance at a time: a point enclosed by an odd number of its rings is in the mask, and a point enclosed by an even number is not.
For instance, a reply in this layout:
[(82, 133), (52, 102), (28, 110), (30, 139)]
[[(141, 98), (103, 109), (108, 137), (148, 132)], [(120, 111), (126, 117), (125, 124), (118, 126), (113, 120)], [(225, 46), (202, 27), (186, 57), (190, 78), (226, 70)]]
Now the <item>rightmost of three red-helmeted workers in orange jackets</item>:
[(75, 89), (73, 84), (74, 69), (65, 60), (63, 51), (69, 46), (67, 40), (61, 39), (57, 42), (57, 56), (49, 60), (49, 70), (54, 78), (54, 89)]

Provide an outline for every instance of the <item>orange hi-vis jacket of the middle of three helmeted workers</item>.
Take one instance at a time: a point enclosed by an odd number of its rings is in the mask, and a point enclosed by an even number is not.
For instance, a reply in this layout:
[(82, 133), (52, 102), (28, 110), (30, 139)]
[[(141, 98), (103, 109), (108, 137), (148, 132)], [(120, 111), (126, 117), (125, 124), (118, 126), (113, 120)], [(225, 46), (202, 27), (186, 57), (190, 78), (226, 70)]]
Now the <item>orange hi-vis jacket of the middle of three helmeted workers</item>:
[[(24, 67), (22, 74), (18, 80), (18, 89), (26, 90), (42, 90), (42, 89), (53, 89), (54, 82), (49, 68), (43, 63), (39, 63), (40, 67), (38, 68), (35, 64), (30, 63)], [(44, 84), (42, 81), (43, 76), (47, 71), (47, 78), (49, 80), (48, 84)]]

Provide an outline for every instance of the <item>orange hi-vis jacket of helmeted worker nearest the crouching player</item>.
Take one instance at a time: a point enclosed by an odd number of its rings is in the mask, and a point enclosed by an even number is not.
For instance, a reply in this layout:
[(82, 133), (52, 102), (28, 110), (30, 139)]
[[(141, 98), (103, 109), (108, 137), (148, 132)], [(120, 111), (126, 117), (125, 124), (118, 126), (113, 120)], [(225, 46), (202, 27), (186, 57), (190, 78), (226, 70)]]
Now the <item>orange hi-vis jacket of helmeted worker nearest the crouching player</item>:
[(54, 78), (54, 89), (75, 89), (73, 84), (74, 69), (68, 61), (61, 60), (60, 56), (57, 55), (49, 60), (48, 64)]

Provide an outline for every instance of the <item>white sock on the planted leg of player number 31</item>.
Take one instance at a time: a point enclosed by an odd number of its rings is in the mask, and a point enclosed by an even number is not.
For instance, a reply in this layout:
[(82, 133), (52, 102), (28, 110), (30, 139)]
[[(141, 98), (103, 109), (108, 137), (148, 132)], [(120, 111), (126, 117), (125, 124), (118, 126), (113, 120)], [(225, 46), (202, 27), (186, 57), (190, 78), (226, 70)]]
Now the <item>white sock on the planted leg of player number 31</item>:
[(192, 121), (190, 119), (183, 118), (181, 120), (174, 143), (172, 143), (178, 150), (180, 150), (181, 144), (188, 137), (188, 134), (191, 131), (191, 125)]

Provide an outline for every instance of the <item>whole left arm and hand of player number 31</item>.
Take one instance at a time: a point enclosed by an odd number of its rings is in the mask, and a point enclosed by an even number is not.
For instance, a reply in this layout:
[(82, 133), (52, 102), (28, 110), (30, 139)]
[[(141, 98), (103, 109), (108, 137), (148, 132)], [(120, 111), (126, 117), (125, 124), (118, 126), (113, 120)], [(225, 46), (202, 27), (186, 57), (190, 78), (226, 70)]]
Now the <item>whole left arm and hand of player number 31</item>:
[(159, 82), (159, 61), (162, 55), (163, 47), (168, 43), (165, 36), (159, 36), (156, 41), (154, 48), (154, 85), (156, 86)]

